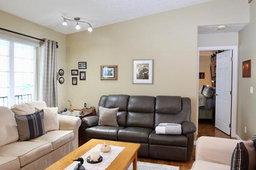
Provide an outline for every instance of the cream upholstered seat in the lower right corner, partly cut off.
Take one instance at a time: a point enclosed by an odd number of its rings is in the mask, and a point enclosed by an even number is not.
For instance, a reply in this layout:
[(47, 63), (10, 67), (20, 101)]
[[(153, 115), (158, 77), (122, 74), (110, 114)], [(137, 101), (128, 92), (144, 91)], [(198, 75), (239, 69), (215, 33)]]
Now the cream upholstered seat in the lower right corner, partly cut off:
[(191, 170), (230, 170), (234, 148), (241, 141), (206, 136), (198, 138), (196, 161)]

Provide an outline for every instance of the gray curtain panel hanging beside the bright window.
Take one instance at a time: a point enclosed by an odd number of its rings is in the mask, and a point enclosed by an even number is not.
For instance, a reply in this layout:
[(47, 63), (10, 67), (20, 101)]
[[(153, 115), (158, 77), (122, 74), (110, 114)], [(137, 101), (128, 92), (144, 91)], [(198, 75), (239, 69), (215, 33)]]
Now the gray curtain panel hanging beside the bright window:
[(45, 39), (41, 43), (39, 100), (48, 107), (57, 107), (57, 57), (56, 41)]

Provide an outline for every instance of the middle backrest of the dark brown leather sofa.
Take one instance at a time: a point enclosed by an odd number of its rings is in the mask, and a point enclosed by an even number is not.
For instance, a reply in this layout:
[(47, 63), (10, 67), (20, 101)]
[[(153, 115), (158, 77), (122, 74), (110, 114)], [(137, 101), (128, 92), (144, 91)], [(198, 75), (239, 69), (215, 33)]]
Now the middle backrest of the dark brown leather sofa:
[(126, 127), (154, 128), (155, 97), (130, 96)]

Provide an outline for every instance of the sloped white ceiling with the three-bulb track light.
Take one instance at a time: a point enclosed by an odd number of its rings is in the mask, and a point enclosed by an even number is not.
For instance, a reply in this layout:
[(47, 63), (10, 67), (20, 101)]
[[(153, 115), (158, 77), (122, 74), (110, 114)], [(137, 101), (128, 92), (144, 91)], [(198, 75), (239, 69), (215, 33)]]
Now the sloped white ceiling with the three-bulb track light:
[[(57, 32), (71, 34), (78, 32), (75, 22), (62, 26), (61, 15), (85, 18), (96, 28), (209, 1), (212, 0), (0, 0), (0, 10)], [(86, 23), (81, 23), (81, 30), (87, 28)]]

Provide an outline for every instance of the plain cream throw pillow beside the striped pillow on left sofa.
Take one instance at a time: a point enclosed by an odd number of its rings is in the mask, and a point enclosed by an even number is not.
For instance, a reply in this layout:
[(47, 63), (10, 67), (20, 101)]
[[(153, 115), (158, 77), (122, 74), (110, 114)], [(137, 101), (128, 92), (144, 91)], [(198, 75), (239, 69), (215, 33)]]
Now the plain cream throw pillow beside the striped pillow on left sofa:
[(35, 110), (44, 110), (44, 124), (46, 132), (59, 130), (57, 107), (36, 107)]

